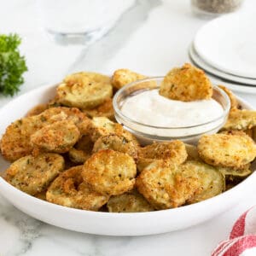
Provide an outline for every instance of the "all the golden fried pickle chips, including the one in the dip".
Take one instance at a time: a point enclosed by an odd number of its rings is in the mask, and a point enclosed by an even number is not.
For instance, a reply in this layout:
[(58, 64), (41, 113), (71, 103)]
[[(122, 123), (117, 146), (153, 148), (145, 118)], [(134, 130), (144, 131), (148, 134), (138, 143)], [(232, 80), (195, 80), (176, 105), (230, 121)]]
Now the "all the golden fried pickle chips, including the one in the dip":
[[(64, 207), (149, 212), (207, 200), (253, 172), (256, 112), (241, 109), (221, 85), (231, 108), (217, 134), (203, 135), (197, 145), (179, 140), (140, 145), (115, 121), (112, 97), (125, 84), (145, 78), (128, 69), (111, 78), (68, 75), (49, 102), (7, 127), (0, 144), (11, 162), (5, 180)], [(160, 86), (162, 96), (180, 101), (209, 98), (211, 90), (205, 73), (190, 64), (173, 68)]]

